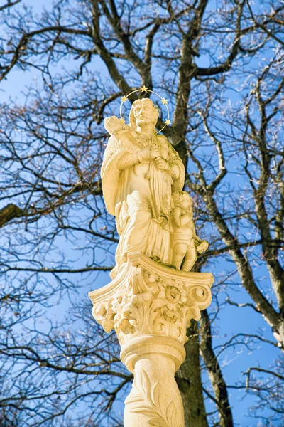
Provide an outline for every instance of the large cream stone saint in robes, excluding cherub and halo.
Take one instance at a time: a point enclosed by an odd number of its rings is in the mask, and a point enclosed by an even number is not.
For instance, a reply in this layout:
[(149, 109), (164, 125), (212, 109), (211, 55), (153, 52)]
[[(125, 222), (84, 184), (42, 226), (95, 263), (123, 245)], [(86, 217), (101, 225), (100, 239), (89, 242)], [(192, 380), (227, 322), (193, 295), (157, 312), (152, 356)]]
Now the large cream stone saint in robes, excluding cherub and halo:
[(167, 138), (157, 134), (157, 121), (158, 108), (149, 98), (133, 102), (129, 125), (115, 116), (104, 119), (110, 137), (102, 164), (102, 189), (120, 236), (111, 278), (130, 252), (172, 262), (172, 194), (182, 191), (185, 168)]

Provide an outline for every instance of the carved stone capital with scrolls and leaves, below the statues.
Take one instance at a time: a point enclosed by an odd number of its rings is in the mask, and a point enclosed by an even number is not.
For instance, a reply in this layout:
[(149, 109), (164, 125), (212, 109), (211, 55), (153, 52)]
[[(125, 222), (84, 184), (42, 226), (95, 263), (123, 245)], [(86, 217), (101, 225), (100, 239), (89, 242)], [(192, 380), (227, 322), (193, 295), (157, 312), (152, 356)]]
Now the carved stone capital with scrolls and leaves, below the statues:
[(200, 310), (211, 302), (212, 275), (157, 268), (145, 255), (131, 255), (124, 274), (113, 282), (114, 292), (94, 300), (94, 318), (106, 332), (116, 330), (121, 346), (141, 334), (172, 337), (184, 344), (190, 320), (199, 320)]

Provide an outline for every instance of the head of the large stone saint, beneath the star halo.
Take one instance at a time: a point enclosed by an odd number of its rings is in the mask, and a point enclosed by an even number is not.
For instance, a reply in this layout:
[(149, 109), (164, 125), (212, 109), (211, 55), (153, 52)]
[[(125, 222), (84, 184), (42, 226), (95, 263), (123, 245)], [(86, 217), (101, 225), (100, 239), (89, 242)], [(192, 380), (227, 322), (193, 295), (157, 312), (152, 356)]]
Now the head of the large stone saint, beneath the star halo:
[(133, 129), (151, 125), (155, 129), (158, 117), (158, 108), (155, 107), (149, 98), (143, 98), (142, 100), (133, 102), (129, 114), (129, 123)]

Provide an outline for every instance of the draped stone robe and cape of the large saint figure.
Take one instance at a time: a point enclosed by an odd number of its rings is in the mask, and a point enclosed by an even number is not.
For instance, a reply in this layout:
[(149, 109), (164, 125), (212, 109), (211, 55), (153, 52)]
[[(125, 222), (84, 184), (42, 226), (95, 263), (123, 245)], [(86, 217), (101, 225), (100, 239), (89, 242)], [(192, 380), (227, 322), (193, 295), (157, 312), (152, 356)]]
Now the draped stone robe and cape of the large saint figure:
[(116, 249), (116, 272), (126, 261), (126, 254), (141, 251), (146, 256), (168, 263), (170, 260), (170, 200), (182, 190), (185, 168), (178, 153), (161, 135), (153, 135), (150, 144), (172, 164), (173, 173), (141, 162), (128, 167), (129, 154), (148, 145), (128, 126), (109, 138), (102, 164), (102, 189), (109, 214), (116, 216), (120, 235)]

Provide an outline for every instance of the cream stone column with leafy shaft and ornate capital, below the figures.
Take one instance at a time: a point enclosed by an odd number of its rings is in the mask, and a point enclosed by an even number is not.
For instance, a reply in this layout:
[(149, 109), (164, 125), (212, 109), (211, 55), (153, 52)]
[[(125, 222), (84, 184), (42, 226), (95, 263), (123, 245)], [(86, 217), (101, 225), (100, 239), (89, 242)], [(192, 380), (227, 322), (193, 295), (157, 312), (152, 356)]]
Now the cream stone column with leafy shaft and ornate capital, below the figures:
[(186, 328), (211, 302), (211, 273), (187, 273), (141, 252), (128, 254), (121, 273), (89, 293), (93, 316), (116, 331), (121, 361), (134, 374), (124, 427), (184, 427), (174, 374), (185, 359)]

